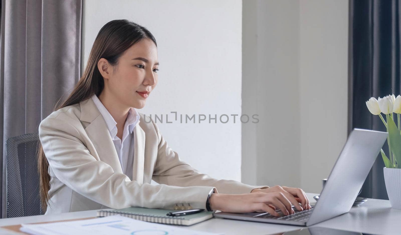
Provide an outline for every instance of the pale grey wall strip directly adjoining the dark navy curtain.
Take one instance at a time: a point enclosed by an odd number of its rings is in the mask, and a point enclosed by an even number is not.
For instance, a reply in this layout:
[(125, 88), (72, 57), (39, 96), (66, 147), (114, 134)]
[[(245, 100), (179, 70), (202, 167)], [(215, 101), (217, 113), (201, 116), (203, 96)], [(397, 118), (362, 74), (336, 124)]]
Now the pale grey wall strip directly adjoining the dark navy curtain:
[(300, 0), (299, 25), (300, 185), (320, 192), (347, 138), (348, 0)]

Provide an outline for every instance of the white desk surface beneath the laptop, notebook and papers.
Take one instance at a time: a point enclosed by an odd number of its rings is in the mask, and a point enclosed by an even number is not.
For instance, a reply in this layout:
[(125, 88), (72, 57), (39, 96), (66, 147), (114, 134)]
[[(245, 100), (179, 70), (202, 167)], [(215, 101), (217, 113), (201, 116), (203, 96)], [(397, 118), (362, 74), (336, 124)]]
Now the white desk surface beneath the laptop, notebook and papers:
[[(318, 193), (307, 193), (311, 204), (315, 201), (313, 196)], [(20, 223), (37, 223), (45, 221), (56, 221), (75, 219), (83, 217), (95, 217), (96, 210), (79, 211), (56, 215), (36, 215), (27, 217), (0, 219), (0, 226), (15, 225)], [(333, 229), (344, 229), (362, 233), (373, 234), (400, 234), (401, 233), (401, 210), (391, 208), (390, 201), (379, 199), (368, 199), (360, 206), (352, 207), (348, 213), (323, 221), (312, 227), (327, 227)], [(221, 232), (231, 234), (275, 234), (300, 229), (299, 226), (277, 225), (271, 223), (259, 223), (249, 221), (238, 221), (231, 219), (213, 218), (207, 221), (185, 226), (188, 229), (209, 232)], [(8, 229), (0, 228), (1, 234), (18, 234)]]

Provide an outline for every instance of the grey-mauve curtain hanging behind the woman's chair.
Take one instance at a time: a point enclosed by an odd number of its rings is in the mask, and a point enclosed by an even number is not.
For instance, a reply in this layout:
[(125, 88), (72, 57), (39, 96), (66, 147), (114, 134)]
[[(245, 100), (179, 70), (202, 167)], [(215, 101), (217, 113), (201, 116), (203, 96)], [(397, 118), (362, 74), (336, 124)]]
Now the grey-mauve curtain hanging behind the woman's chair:
[(80, 78), (82, 0), (2, 0), (0, 143), (6, 217), (5, 141), (37, 133)]

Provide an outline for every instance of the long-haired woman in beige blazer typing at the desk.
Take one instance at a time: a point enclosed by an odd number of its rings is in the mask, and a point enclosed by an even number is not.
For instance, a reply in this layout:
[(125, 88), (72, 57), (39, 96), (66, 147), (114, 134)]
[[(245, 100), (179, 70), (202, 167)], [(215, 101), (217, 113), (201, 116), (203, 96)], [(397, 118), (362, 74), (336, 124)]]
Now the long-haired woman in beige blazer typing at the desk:
[[(83, 76), (39, 125), (46, 214), (103, 208), (204, 208), (292, 214), (302, 189), (218, 180), (181, 161), (156, 123), (136, 109), (158, 82), (154, 36), (128, 20), (105, 24)], [(151, 180), (159, 183), (151, 185)], [(301, 205), (300, 205), (301, 204)]]

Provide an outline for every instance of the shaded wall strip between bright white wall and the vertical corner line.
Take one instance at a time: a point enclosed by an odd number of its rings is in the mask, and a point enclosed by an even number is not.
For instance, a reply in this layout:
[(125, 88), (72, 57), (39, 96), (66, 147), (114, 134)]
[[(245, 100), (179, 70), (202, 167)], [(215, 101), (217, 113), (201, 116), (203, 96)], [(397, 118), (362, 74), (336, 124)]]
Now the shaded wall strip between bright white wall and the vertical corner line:
[[(243, 46), (248, 47), (243, 52), (243, 112), (252, 107), (260, 121), (243, 124), (243, 181), (295, 187), (299, 180), (293, 176), (300, 172), (298, 2), (251, 2), (243, 5), (243, 42), (249, 42)], [(248, 159), (255, 165), (247, 163)]]

